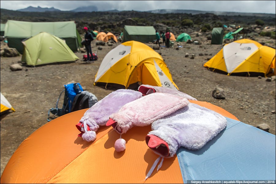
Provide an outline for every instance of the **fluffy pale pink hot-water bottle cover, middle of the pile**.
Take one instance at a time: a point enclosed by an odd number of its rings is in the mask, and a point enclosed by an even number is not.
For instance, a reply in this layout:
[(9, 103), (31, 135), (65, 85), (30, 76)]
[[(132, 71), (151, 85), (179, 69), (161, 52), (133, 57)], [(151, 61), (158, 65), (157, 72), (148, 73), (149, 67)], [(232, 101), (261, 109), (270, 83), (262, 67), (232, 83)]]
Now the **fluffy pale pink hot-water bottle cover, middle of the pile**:
[(150, 125), (153, 121), (167, 116), (189, 103), (186, 98), (173, 94), (152, 93), (125, 104), (117, 113), (111, 114), (110, 118), (116, 121), (117, 126), (122, 129), (122, 133), (125, 133), (133, 126)]

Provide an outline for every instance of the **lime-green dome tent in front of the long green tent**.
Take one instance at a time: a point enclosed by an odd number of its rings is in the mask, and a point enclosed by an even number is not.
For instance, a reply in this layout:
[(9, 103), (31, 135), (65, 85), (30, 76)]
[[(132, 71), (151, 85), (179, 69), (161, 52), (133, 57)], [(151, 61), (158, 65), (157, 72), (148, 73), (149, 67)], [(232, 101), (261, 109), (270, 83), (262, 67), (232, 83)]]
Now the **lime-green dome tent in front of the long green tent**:
[(74, 62), (79, 59), (65, 40), (46, 32), (22, 41), (22, 44), (24, 52), (21, 61), (29, 66)]

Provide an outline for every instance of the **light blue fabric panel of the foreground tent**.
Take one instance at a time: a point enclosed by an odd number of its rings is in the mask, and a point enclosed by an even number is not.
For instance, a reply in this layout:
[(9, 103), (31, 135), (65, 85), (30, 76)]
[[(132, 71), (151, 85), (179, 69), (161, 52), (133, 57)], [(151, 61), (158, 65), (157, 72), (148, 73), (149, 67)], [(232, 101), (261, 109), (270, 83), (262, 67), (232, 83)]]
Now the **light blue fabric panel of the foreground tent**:
[(226, 128), (201, 149), (178, 149), (183, 182), (275, 180), (275, 135), (226, 119)]

